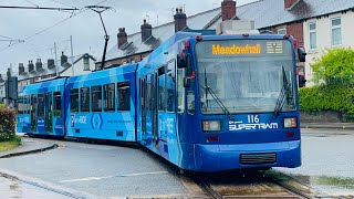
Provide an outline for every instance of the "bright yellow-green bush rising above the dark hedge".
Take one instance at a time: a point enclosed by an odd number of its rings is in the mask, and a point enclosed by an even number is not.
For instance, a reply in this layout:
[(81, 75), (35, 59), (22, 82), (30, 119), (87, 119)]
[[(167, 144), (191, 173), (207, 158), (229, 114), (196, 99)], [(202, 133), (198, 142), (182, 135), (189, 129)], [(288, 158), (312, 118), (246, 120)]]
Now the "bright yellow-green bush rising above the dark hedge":
[(314, 81), (324, 80), (327, 84), (354, 83), (354, 51), (351, 48), (331, 49), (313, 64)]

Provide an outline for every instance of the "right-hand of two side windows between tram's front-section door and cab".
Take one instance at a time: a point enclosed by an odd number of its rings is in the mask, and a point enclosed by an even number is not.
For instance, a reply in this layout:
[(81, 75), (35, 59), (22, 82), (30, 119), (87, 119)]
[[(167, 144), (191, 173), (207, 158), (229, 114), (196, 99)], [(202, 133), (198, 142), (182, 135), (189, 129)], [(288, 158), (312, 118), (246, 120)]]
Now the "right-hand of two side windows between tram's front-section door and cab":
[(167, 65), (167, 112), (175, 112), (176, 65), (175, 61)]

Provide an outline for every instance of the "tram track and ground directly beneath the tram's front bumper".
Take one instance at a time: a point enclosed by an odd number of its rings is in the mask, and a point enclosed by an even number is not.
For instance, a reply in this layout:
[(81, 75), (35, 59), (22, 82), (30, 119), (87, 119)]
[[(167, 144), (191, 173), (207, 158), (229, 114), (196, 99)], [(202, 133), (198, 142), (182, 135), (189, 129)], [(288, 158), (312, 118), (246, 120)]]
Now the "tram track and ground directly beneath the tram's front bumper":
[[(216, 175), (218, 176), (218, 175)], [(194, 176), (194, 181), (215, 199), (310, 199), (309, 192), (270, 178), (261, 172), (253, 174), (221, 174), (218, 177), (209, 175)]]

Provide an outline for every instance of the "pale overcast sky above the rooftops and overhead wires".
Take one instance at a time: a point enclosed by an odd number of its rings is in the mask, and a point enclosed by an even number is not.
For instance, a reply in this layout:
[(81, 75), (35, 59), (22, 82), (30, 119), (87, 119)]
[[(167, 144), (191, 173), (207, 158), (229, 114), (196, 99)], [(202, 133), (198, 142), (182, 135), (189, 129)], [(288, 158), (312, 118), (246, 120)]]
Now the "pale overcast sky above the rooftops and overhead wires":
[[(111, 35), (108, 49), (116, 43), (118, 28), (125, 27), (128, 34), (138, 32), (143, 19), (153, 27), (173, 21), (176, 7), (184, 7), (187, 15), (221, 6), (222, 0), (1, 0), (0, 6), (62, 7), (82, 9), (96, 4), (112, 7), (103, 12), (103, 19)], [(256, 0), (237, 0), (241, 6)], [(74, 54), (85, 52), (102, 56), (104, 31), (98, 14), (82, 9), (71, 12), (46, 10), (0, 9), (0, 73), (4, 74), (10, 63), (13, 71), (19, 63), (29, 60), (45, 61), (54, 57), (54, 42), (58, 52), (70, 54), (70, 35), (73, 36)], [(71, 17), (72, 15), (72, 17)], [(71, 18), (70, 18), (71, 17)], [(11, 46), (9, 41), (13, 40)], [(24, 40), (18, 43), (17, 40)], [(60, 55), (60, 53), (58, 53)]]

